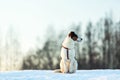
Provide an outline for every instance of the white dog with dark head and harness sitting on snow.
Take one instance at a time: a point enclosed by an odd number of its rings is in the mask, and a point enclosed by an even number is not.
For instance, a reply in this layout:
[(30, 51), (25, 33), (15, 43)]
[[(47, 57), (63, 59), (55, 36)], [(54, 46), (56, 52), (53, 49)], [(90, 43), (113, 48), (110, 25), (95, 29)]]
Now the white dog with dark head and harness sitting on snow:
[(60, 70), (55, 72), (61, 73), (75, 73), (78, 67), (77, 61), (75, 59), (75, 42), (82, 41), (82, 38), (79, 38), (78, 35), (71, 31), (65, 40), (62, 43), (61, 48), (61, 61), (60, 61)]

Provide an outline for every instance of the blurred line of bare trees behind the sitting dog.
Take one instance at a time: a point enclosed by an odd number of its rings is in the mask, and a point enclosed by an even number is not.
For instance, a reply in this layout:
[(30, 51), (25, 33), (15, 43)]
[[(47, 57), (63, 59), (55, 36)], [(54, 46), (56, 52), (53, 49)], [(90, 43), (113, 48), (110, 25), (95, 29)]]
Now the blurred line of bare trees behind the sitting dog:
[[(78, 69), (119, 69), (120, 21), (114, 22), (111, 16), (106, 16), (96, 24), (91, 21), (88, 22), (85, 28), (83, 41), (75, 44)], [(77, 34), (82, 34), (81, 24), (71, 25), (70, 29), (74, 29)], [(63, 30), (56, 34), (54, 29), (48, 28), (43, 47), (29, 50), (27, 55), (23, 56), (19, 50), (18, 38), (12, 36), (11, 31), (11, 35), (8, 36), (9, 39), (7, 39), (7, 44), (4, 47), (7, 52), (4, 53), (3, 48), (0, 47), (0, 70), (59, 68), (60, 50), (62, 40), (66, 36), (65, 32)], [(41, 41), (39, 40), (36, 46), (40, 44)], [(18, 56), (19, 58), (17, 58)]]

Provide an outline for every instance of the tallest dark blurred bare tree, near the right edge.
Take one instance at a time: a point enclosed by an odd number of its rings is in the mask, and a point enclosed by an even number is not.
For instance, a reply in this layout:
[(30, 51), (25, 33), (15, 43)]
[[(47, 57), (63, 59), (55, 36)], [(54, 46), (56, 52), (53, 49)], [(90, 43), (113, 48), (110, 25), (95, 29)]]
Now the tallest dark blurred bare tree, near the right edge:
[(106, 64), (106, 67), (108, 68), (113, 68), (113, 53), (112, 53), (112, 20), (110, 18), (106, 18), (105, 19), (105, 23), (104, 23), (104, 29), (105, 29), (105, 32), (104, 32), (104, 45), (105, 45), (105, 51), (104, 51), (104, 54), (105, 54), (105, 64)]

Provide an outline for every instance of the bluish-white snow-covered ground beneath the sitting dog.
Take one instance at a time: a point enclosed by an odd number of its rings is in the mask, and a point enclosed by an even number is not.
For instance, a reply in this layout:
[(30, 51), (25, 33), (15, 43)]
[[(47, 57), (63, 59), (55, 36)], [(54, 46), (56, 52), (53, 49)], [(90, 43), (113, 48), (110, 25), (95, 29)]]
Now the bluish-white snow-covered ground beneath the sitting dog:
[(120, 70), (78, 70), (73, 74), (52, 70), (0, 72), (0, 80), (120, 80)]

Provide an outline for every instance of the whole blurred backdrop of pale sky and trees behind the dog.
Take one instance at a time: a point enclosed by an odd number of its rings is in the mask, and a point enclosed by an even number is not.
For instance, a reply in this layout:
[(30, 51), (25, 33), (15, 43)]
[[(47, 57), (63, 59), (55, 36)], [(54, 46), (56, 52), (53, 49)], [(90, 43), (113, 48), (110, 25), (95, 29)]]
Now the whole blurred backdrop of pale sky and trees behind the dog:
[(120, 68), (119, 0), (0, 0), (0, 71), (59, 68), (70, 31), (78, 69)]

